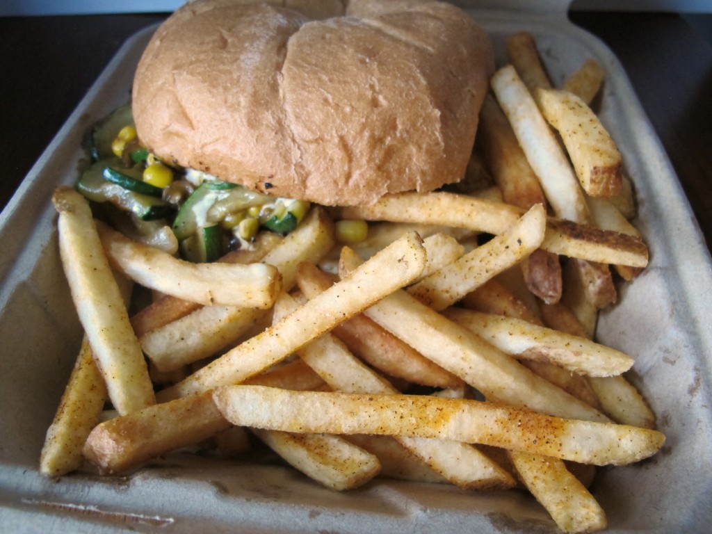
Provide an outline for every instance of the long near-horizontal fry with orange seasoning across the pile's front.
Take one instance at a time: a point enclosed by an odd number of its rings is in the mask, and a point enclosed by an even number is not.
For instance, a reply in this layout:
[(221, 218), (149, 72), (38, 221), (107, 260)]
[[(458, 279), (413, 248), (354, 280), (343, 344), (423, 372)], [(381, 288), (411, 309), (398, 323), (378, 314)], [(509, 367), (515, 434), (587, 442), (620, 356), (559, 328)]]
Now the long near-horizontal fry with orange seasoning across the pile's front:
[(233, 424), (256, 428), (385, 434), (481, 443), (582, 464), (622, 465), (659, 451), (658, 431), (561, 419), (471, 399), (403, 394), (294, 392), (263, 386), (214, 390), (216, 406)]

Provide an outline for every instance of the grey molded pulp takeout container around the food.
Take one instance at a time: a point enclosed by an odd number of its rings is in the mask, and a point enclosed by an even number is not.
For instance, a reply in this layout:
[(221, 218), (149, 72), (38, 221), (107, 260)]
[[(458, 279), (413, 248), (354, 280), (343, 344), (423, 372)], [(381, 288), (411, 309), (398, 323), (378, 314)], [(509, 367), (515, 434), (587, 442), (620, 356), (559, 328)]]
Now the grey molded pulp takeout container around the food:
[[(535, 4), (535, 5), (534, 5)], [(585, 58), (607, 71), (600, 115), (637, 188), (637, 227), (650, 248), (642, 276), (602, 314), (598, 340), (636, 358), (629, 379), (667, 436), (652, 459), (602, 468), (592, 493), (610, 532), (703, 532), (712, 524), (708, 250), (659, 140), (612, 53), (565, 17), (566, 0), (481, 1), (473, 16), (503, 40), (537, 38), (554, 83)], [(37, 471), (48, 425), (81, 332), (58, 258), (51, 193), (73, 184), (90, 125), (129, 98), (155, 27), (137, 33), (105, 69), (0, 216), (0, 530), (44, 533), (555, 532), (524, 492), (466, 492), (377, 479), (355, 491), (318, 486), (278, 464), (171, 454), (128, 476)]]

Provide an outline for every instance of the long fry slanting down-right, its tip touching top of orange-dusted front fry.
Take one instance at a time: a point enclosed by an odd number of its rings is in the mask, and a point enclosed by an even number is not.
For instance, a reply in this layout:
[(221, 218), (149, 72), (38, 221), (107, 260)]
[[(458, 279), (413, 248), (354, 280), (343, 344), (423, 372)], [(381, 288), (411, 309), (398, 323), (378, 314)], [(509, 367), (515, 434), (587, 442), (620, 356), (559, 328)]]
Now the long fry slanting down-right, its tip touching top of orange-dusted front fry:
[[(360, 261), (353, 251), (344, 248), (340, 269), (348, 273)], [(364, 313), (425, 357), (464, 379), (488, 400), (565, 417), (607, 421), (600, 412), (534, 375), (512, 357), (405, 291), (395, 291)]]

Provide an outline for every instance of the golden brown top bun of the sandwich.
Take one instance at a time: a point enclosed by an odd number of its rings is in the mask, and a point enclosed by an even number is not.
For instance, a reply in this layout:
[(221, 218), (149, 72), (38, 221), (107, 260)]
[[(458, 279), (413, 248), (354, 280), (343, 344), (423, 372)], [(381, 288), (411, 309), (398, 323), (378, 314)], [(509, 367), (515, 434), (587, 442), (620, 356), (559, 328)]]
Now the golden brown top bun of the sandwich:
[(352, 1), (346, 16), (339, 0), (198, 0), (149, 43), (134, 115), (166, 161), (367, 204), (461, 179), (493, 68), (486, 33), (451, 4)]

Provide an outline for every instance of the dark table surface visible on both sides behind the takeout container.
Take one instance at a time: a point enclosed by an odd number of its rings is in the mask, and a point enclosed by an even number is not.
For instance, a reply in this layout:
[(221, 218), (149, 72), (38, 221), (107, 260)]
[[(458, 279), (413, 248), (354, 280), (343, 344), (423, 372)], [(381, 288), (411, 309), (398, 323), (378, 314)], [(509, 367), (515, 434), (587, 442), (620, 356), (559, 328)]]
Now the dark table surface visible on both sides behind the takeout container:
[[(125, 39), (165, 16), (0, 18), (0, 206)], [(712, 244), (712, 46), (674, 14), (571, 19), (619, 57)]]

